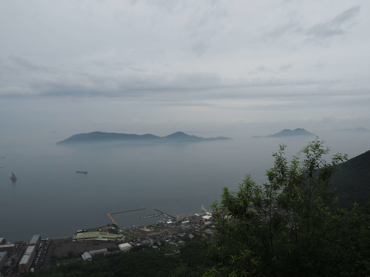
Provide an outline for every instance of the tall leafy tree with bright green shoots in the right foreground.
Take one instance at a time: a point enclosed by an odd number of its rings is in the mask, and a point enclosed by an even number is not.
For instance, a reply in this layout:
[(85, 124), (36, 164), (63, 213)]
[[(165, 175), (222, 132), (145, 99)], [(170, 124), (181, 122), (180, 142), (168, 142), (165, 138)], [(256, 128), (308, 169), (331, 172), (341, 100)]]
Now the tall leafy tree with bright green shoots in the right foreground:
[(266, 184), (246, 175), (239, 191), (224, 188), (212, 205), (216, 236), (208, 257), (216, 266), (204, 276), (353, 275), (353, 265), (369, 258), (369, 243), (361, 242), (368, 216), (356, 203), (351, 211), (334, 206), (330, 180), (347, 155), (327, 163), (329, 148), (316, 138), (288, 163), (285, 148), (273, 154)]

